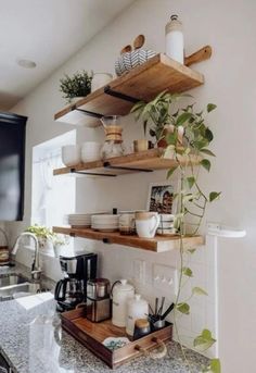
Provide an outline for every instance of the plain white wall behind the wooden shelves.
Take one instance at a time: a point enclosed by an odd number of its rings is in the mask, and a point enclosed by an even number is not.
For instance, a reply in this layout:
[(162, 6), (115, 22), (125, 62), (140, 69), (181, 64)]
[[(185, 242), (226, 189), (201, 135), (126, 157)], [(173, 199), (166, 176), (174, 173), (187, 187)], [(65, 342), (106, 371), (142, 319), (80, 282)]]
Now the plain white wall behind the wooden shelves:
[[(207, 43), (213, 47), (213, 58), (196, 66), (205, 74), (205, 85), (191, 92), (199, 104), (205, 105), (210, 101), (218, 105), (218, 110), (210, 116), (215, 133), (213, 150), (218, 158), (214, 161), (209, 175), (202, 173), (202, 183), (207, 190), (222, 190), (222, 198), (210, 207), (208, 219), (247, 231), (245, 239), (221, 239), (218, 245), (219, 347), (223, 373), (255, 371), (255, 12), (256, 3), (253, 0), (139, 0), (13, 108), (13, 111), (29, 116), (24, 221), (24, 225), (27, 225), (30, 216), (31, 147), (72, 128), (53, 122), (54, 112), (63, 107), (59, 79), (64, 72), (72, 73), (79, 69), (114, 72), (114, 61), (121, 47), (141, 33), (146, 36), (149, 47), (163, 51), (164, 26), (171, 13), (178, 13), (183, 21), (188, 54)], [(127, 141), (139, 138), (142, 134), (131, 117), (124, 120), (124, 126)], [(100, 128), (78, 130), (80, 140), (102, 136), (99, 135)], [(164, 178), (164, 172), (156, 172), (153, 177), (136, 174), (117, 181), (79, 181), (77, 208), (88, 211), (113, 206), (120, 209), (143, 208), (149, 182)], [(15, 229), (22, 228), (21, 224), (11, 226), (13, 234)], [(82, 240), (79, 243), (85, 245)], [(125, 265), (121, 263), (127, 265), (136, 257), (146, 260), (148, 274), (154, 261), (170, 265), (176, 262), (175, 253), (155, 256), (90, 241), (87, 246), (104, 251), (104, 258), (101, 258), (105, 264), (103, 273), (108, 276), (113, 273), (114, 276), (123, 275)], [(207, 274), (213, 269), (209, 265), (210, 259), (202, 261), (201, 258), (199, 262), (199, 272), (201, 277), (203, 273), (207, 284)], [(127, 271), (129, 270), (130, 266)], [(209, 283), (212, 286), (213, 278)], [(207, 319), (213, 320), (210, 310), (207, 304), (200, 307), (201, 319), (206, 322)], [(183, 324), (184, 330), (191, 332), (196, 325), (191, 319), (187, 324), (189, 325)]]

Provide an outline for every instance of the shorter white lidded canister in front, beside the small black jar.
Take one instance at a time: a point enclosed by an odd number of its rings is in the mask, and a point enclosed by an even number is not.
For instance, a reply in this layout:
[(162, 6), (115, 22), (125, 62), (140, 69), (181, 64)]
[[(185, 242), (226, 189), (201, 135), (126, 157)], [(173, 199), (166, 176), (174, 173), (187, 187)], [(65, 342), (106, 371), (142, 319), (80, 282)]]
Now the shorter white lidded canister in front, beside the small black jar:
[(136, 320), (148, 319), (149, 303), (136, 294), (127, 304), (126, 333), (133, 336)]

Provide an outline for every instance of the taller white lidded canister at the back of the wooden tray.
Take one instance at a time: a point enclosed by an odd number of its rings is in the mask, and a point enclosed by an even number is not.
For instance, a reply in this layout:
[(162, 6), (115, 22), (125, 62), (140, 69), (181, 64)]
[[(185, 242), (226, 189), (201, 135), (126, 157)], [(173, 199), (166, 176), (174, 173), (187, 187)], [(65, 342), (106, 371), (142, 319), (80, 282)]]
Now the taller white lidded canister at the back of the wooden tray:
[(125, 327), (127, 319), (127, 301), (135, 296), (135, 287), (127, 279), (120, 279), (112, 286), (112, 323)]

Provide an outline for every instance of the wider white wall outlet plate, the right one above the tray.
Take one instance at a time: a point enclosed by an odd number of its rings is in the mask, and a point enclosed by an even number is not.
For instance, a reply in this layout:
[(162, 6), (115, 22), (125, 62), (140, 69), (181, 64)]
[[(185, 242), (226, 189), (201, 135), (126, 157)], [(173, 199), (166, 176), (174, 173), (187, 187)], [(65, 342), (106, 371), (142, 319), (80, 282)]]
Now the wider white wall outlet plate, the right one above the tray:
[(177, 295), (178, 271), (174, 266), (154, 264), (153, 286), (162, 291), (168, 291)]

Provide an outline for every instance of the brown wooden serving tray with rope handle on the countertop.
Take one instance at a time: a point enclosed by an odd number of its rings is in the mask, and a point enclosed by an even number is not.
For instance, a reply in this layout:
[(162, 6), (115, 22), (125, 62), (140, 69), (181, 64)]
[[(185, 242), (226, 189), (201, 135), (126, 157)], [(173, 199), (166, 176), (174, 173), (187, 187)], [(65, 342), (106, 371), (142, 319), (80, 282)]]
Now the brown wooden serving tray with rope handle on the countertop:
[(107, 337), (128, 337), (131, 340), (125, 327), (113, 325), (111, 320), (92, 323), (84, 314), (82, 309), (62, 313), (62, 327), (112, 369), (140, 356), (141, 349), (155, 348), (157, 340), (166, 341), (172, 338), (172, 324), (166, 323), (162, 330), (112, 351), (103, 345), (103, 340)]

